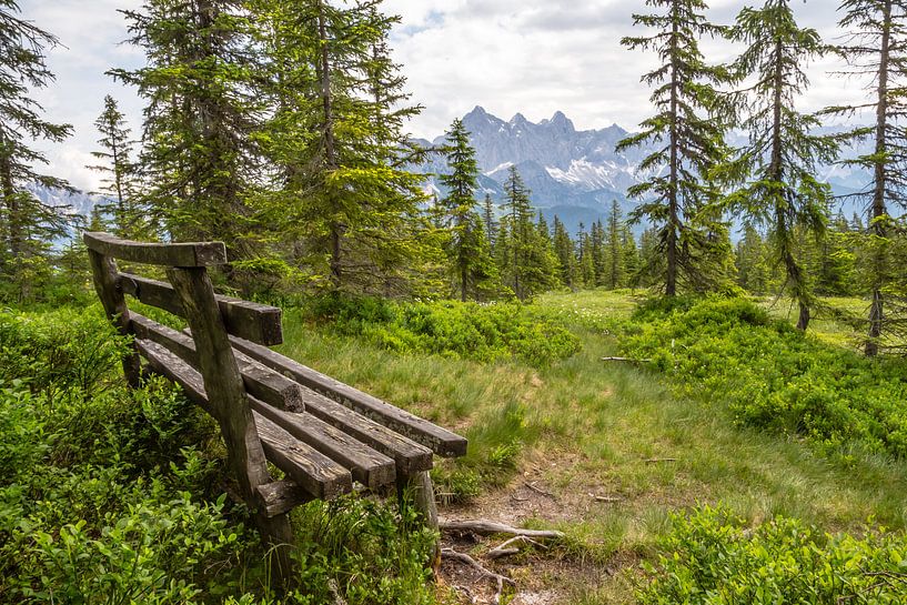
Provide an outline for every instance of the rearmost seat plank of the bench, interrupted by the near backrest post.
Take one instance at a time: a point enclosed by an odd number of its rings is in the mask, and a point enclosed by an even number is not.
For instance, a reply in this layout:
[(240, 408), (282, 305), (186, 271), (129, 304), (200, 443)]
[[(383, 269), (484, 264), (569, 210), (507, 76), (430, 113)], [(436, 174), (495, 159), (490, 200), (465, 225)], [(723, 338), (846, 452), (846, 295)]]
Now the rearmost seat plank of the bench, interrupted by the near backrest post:
[[(139, 340), (139, 350), (151, 369), (180, 386), (190, 401), (213, 415), (202, 375), (174, 353), (153, 342)], [(254, 400), (252, 400), (254, 401)], [(259, 409), (268, 407), (258, 402)], [(268, 460), (286, 473), (311, 497), (327, 500), (352, 490), (352, 475), (339, 463), (313, 447), (301, 443), (273, 422), (253, 412), (256, 436)], [(273, 483), (268, 481), (261, 485)], [(349, 488), (347, 488), (349, 484)], [(256, 500), (261, 497), (260, 486), (255, 486)], [(269, 516), (273, 516), (269, 512)]]

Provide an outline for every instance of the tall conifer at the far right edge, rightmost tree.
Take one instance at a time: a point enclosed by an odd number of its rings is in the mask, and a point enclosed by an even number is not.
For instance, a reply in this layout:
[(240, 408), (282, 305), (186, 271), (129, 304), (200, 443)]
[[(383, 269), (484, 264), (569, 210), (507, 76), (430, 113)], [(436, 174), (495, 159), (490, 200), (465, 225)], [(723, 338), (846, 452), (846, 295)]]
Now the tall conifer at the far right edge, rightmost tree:
[(825, 113), (853, 117), (873, 115), (871, 125), (851, 128), (839, 137), (844, 142), (869, 139), (871, 150), (842, 163), (871, 173), (864, 191), (853, 195), (866, 204), (870, 241), (875, 253), (863, 268), (864, 280), (871, 292), (866, 354), (878, 354), (878, 340), (885, 330), (886, 286), (895, 273), (886, 245), (893, 226), (889, 212), (907, 208), (907, 1), (844, 0), (840, 27), (850, 34), (835, 51), (850, 64), (849, 75), (870, 78), (871, 98), (859, 105), (833, 107)]

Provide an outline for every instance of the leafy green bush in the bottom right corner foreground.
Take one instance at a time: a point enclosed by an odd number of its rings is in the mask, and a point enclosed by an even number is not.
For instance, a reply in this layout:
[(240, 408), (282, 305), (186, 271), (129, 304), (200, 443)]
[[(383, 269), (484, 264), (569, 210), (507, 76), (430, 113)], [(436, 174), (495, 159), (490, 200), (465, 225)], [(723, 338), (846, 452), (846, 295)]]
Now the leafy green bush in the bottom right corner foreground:
[(907, 602), (907, 536), (822, 534), (777, 518), (747, 528), (725, 510), (673, 517), (641, 605), (881, 605)]

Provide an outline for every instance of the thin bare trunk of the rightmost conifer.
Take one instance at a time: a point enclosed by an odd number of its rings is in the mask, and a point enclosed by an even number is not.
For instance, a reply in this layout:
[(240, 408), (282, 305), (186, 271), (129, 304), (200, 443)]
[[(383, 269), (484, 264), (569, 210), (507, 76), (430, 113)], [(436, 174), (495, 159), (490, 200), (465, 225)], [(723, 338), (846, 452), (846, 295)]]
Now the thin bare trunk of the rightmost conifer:
[[(878, 104), (876, 107), (876, 165), (875, 186), (873, 191), (873, 205), (869, 209), (869, 224), (873, 233), (877, 238), (885, 238), (885, 225), (879, 221), (887, 213), (885, 208), (886, 190), (886, 160), (884, 154), (887, 150), (887, 122), (888, 122), (888, 65), (891, 43), (891, 0), (886, 0), (883, 8), (883, 32), (881, 50), (879, 54), (878, 68)], [(866, 355), (874, 357), (878, 355), (878, 339), (881, 336), (883, 322), (885, 321), (885, 306), (881, 294), (881, 273), (884, 272), (883, 259), (874, 259), (873, 272), (873, 305), (869, 307), (869, 333), (866, 341)]]

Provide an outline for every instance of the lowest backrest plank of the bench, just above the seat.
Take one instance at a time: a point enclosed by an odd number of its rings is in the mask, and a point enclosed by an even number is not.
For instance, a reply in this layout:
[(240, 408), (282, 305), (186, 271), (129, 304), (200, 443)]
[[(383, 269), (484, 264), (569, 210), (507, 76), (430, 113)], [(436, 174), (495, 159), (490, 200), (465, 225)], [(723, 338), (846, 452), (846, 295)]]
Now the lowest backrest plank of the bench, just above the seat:
[[(138, 337), (165, 346), (190, 365), (199, 367), (199, 355), (195, 352), (195, 343), (191, 336), (138, 313), (130, 316), (129, 325), (130, 331)], [(305, 405), (302, 402), (302, 389), (299, 384), (242, 353), (236, 353), (235, 356), (243, 384), (250, 395), (281, 410), (290, 412), (305, 411)]]

